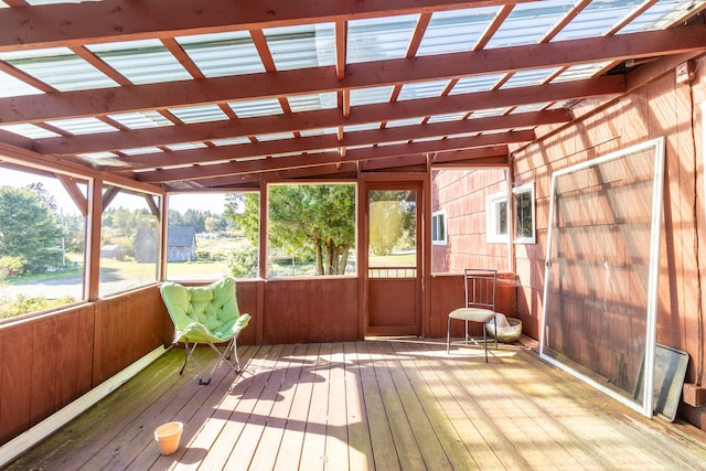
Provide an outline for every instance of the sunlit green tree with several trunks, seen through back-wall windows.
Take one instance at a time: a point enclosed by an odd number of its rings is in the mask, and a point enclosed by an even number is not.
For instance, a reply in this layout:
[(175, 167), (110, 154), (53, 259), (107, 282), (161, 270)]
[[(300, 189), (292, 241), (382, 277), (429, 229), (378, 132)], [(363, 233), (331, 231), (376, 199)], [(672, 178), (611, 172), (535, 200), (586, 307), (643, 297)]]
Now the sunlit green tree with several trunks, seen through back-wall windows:
[[(257, 242), (257, 195), (232, 196), (226, 215), (250, 242)], [(269, 192), (270, 249), (311, 257), (319, 275), (343, 275), (355, 242), (355, 186), (276, 185)]]

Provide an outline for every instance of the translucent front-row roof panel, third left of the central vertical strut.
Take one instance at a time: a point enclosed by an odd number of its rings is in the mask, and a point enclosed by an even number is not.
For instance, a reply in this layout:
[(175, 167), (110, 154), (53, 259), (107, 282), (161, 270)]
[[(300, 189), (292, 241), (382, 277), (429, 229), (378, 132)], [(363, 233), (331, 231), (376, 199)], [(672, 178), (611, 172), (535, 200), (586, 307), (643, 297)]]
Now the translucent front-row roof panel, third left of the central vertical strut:
[(89, 44), (86, 47), (133, 84), (192, 78), (159, 40)]

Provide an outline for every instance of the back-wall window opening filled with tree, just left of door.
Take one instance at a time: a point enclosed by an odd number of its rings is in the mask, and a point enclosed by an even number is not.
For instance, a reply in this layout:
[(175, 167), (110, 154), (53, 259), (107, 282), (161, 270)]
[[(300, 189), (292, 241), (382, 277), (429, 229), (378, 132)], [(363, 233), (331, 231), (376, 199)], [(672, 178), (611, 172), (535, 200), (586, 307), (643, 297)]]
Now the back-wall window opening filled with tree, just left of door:
[(354, 184), (270, 185), (268, 203), (269, 278), (355, 274)]

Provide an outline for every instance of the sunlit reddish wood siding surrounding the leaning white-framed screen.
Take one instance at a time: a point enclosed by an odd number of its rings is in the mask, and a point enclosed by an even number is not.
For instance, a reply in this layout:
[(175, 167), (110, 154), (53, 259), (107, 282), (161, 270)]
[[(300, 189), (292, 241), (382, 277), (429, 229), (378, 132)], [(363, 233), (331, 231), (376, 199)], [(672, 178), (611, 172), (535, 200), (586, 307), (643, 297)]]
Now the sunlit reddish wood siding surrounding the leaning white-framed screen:
[[(696, 385), (704, 382), (699, 266), (705, 257), (703, 250), (697, 250), (697, 237), (703, 240), (699, 228), (704, 225), (700, 125), (700, 104), (706, 100), (704, 62), (696, 64), (696, 78), (691, 85), (677, 84), (675, 72), (670, 71), (650, 85), (513, 153), (513, 185), (535, 184), (537, 244), (514, 247), (521, 285), (517, 311), (525, 334), (539, 339), (553, 172), (664, 136), (657, 342), (686, 351), (691, 361), (685, 381)], [(703, 278), (700, 281), (703, 285)], [(704, 428), (706, 415), (702, 409), (682, 404), (680, 413)]]

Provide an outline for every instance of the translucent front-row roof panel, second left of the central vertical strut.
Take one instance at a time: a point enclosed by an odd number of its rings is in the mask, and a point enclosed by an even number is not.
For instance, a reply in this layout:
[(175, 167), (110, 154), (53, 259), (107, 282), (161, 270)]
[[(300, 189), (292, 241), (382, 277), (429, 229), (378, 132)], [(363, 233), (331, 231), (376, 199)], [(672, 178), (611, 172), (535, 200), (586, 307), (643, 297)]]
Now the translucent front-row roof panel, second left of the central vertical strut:
[(265, 72), (247, 31), (181, 36), (176, 42), (206, 77)]

